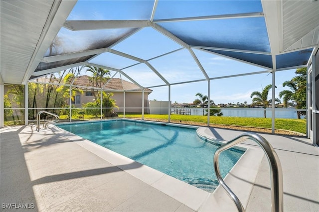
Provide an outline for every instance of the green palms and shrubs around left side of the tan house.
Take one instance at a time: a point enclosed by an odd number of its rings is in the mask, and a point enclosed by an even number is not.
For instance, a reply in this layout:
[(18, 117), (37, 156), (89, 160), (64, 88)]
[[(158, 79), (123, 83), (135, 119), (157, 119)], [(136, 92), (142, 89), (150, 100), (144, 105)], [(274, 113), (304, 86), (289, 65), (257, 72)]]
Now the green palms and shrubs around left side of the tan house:
[[(95, 87), (96, 89), (91, 89), (92, 94), (95, 97), (95, 102), (89, 102), (84, 104), (83, 107), (101, 107), (101, 88), (103, 85), (110, 79), (110, 71), (102, 68), (97, 68), (93, 66), (86, 66), (86, 72), (92, 73), (92, 77), (89, 77), (90, 85), (88, 87)], [(51, 108), (45, 109), (47, 111), (60, 114), (67, 115), (69, 118), (70, 113), (70, 104), (68, 103), (71, 99), (71, 102), (74, 102), (74, 98), (76, 94), (82, 94), (83, 90), (76, 85), (70, 85), (74, 83), (76, 75), (80, 71), (79, 67), (75, 69), (64, 70), (62, 72), (51, 74), (46, 76), (44, 79), (45, 82), (49, 83), (41, 83), (43, 80), (36, 80), (36, 83), (28, 83), (28, 119), (35, 119), (37, 112), (42, 109), (36, 108)], [(59, 84), (59, 85), (58, 85)], [(4, 95), (4, 108), (11, 107), (24, 107), (24, 86), (23, 85), (12, 85), (9, 86), (8, 92)], [(70, 97), (71, 94), (71, 97)], [(102, 106), (103, 107), (117, 107), (115, 100), (111, 97), (113, 93), (110, 92), (102, 92)], [(74, 109), (73, 109), (74, 107)], [(34, 109), (32, 109), (34, 108)], [(63, 109), (60, 109), (63, 108)], [(111, 116), (111, 112), (113, 109), (111, 108), (103, 108), (103, 115)], [(23, 114), (24, 110), (20, 109), (20, 113)], [(101, 115), (101, 109), (76, 109), (75, 106), (72, 105), (72, 114), (77, 115), (79, 113), (85, 113), (88, 115), (94, 115), (99, 117)], [(45, 118), (46, 113), (42, 114), (41, 118)], [(12, 109), (4, 110), (4, 118), (8, 119), (10, 117), (12, 120), (19, 120), (18, 117), (14, 117), (14, 113)]]

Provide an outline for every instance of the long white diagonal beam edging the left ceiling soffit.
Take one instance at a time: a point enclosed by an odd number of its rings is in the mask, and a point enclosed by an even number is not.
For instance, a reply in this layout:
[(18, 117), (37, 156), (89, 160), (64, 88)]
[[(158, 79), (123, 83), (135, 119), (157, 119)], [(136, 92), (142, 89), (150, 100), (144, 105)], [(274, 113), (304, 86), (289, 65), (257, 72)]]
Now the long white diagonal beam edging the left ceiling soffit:
[(40, 63), (43, 55), (52, 43), (52, 40), (59, 32), (61, 26), (63, 25), (65, 19), (68, 17), (76, 2), (76, 0), (56, 0), (53, 2), (50, 14), (48, 15), (37, 46), (25, 71), (22, 84), (27, 83), (27, 81), (33, 74), (33, 71)]

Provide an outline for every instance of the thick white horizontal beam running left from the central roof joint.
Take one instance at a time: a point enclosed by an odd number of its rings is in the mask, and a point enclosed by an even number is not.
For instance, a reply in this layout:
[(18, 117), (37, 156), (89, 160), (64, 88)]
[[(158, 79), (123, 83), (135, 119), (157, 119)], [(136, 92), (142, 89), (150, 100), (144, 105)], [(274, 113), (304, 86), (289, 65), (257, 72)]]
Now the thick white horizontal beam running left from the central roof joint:
[(149, 20), (67, 20), (64, 27), (72, 31), (96, 30), (96, 29), (118, 29), (118, 28), (140, 28), (149, 26)]

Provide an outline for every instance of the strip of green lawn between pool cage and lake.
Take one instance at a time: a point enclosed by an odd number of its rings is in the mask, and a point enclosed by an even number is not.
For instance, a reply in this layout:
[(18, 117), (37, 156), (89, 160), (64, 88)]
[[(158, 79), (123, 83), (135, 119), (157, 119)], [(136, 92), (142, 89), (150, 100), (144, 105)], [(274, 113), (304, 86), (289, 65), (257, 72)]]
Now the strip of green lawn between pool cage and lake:
[[(123, 115), (119, 115), (123, 117)], [(142, 117), (141, 114), (125, 114), (125, 117)], [(154, 119), (168, 119), (168, 115), (144, 114), (145, 118)], [(207, 116), (203, 115), (170, 115), (171, 120), (193, 121), (200, 123), (207, 123)], [(225, 117), (225, 116), (210, 116), (209, 122), (211, 124), (226, 124), (236, 126), (251, 126), (251, 127), (272, 127), (271, 118), (250, 118), (250, 117)], [(306, 119), (288, 119), (276, 118), (276, 129), (286, 129), (295, 132), (306, 134)]]

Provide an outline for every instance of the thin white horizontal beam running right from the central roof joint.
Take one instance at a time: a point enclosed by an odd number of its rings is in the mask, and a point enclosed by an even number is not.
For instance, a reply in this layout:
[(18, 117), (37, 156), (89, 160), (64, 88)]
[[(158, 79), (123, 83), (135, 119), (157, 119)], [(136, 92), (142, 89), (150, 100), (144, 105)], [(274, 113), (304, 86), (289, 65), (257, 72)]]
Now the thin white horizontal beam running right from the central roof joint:
[(218, 20), (218, 19), (230, 19), (230, 18), (248, 18), (248, 17), (263, 17), (263, 12), (248, 12), (248, 13), (237, 13), (237, 14), (225, 14), (225, 15), (206, 15), (197, 17), (184, 17), (184, 18), (168, 18), (154, 20), (155, 23), (162, 22), (180, 22), (180, 21), (195, 21), (195, 20)]

